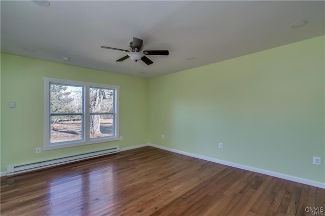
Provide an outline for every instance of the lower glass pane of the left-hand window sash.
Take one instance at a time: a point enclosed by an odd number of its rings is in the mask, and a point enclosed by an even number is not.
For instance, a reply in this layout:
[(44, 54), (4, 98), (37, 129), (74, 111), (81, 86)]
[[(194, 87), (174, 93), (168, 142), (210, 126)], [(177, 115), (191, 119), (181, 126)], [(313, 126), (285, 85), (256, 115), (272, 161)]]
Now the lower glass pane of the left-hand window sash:
[(51, 143), (82, 139), (82, 115), (51, 116)]

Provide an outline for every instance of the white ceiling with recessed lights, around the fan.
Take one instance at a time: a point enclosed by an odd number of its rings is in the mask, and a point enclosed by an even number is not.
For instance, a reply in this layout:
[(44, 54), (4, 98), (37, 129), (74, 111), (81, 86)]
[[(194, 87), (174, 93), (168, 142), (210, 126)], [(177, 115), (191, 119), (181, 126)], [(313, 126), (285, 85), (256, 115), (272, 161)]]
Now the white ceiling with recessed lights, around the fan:
[[(323, 35), (324, 3), (1, 1), (1, 52), (151, 78)], [(308, 24), (290, 28), (300, 20)], [(115, 62), (124, 52), (100, 48), (128, 50), (133, 37), (170, 55), (147, 55), (154, 63), (135, 67), (130, 58)]]

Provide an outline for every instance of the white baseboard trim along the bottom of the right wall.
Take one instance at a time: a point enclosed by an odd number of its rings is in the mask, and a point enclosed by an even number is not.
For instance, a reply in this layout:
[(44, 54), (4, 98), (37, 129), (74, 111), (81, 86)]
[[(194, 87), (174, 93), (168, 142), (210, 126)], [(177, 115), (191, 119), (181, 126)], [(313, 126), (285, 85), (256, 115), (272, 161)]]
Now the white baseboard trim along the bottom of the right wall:
[(245, 165), (232, 163), (232, 162), (228, 162), (228, 161), (222, 161), (222, 160), (218, 160), (218, 159), (214, 159), (214, 158), (209, 158), (209, 157), (196, 155), (196, 154), (192, 154), (192, 153), (188, 153), (188, 152), (183, 152), (183, 151), (179, 151), (179, 150), (175, 150), (175, 149), (171, 149), (171, 148), (167, 148), (167, 147), (163, 147), (163, 146), (154, 145), (152, 143), (148, 143), (148, 146), (155, 147), (155, 148), (158, 148), (158, 149), (163, 149), (163, 150), (178, 153), (178, 154), (182, 154), (182, 155), (186, 155), (186, 156), (190, 156), (190, 157), (193, 157), (193, 158), (199, 158), (199, 159), (206, 160), (206, 161), (211, 161), (211, 162), (214, 162), (214, 163), (219, 163), (219, 164), (223, 164), (223, 165), (227, 165), (227, 166), (232, 166), (232, 167), (236, 167), (236, 168), (239, 168), (239, 169), (244, 169), (244, 170), (248, 170), (248, 171), (252, 171), (252, 172), (266, 174), (266, 175), (270, 175), (270, 176), (273, 176), (273, 177), (283, 178), (283, 179), (286, 179), (286, 180), (289, 180), (289, 181), (298, 182), (298, 183), (302, 183), (302, 184), (305, 184), (305, 185), (310, 185), (310, 186), (325, 189), (325, 183), (316, 182), (316, 181), (312, 181), (312, 180), (305, 179), (305, 178), (300, 178), (300, 177), (296, 177), (296, 176), (292, 176), (292, 175), (273, 172), (273, 171), (269, 171), (269, 170), (265, 170), (265, 169), (259, 169), (259, 168), (255, 168), (255, 167), (251, 167), (251, 166), (245, 166)]

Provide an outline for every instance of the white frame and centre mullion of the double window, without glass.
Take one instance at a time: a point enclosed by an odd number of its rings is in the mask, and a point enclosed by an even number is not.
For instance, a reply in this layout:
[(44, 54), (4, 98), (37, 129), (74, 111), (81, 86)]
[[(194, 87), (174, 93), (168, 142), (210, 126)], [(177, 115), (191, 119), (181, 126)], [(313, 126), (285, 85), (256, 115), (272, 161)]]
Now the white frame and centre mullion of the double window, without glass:
[[(44, 146), (43, 150), (54, 150), (69, 148), (75, 146), (89, 145), (93, 143), (108, 142), (119, 140), (119, 86), (99, 84), (99, 83), (89, 83), (75, 80), (63, 80), (56, 78), (44, 77)], [(75, 85), (83, 87), (83, 127), (82, 127), (82, 139), (58, 142), (57, 144), (50, 143), (50, 84), (63, 84), (63, 85)], [(89, 104), (89, 92), (90, 88), (103, 88), (103, 89), (114, 89), (114, 115), (113, 115), (113, 131), (115, 134), (109, 137), (95, 137), (90, 138), (90, 104)]]

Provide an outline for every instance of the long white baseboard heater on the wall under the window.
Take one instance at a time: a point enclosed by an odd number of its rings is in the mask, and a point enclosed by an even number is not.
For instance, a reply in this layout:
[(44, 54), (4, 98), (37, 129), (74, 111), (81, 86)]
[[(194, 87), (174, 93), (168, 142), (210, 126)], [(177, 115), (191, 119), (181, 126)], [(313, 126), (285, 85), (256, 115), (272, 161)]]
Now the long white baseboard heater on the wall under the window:
[(120, 148), (115, 147), (115, 148), (106, 149), (106, 150), (102, 150), (102, 151), (90, 152), (90, 153), (74, 155), (74, 156), (69, 156), (69, 157), (64, 157), (64, 158), (57, 158), (57, 159), (47, 160), (47, 161), (42, 161), (42, 162), (29, 163), (29, 164), (18, 165), (18, 166), (8, 166), (7, 167), (7, 175), (13, 175), (13, 174), (18, 174), (18, 173), (22, 173), (22, 172), (56, 166), (56, 165), (60, 165), (60, 164), (80, 161), (80, 160), (84, 160), (84, 159), (114, 154), (114, 153), (118, 153), (119, 151), (120, 151)]

